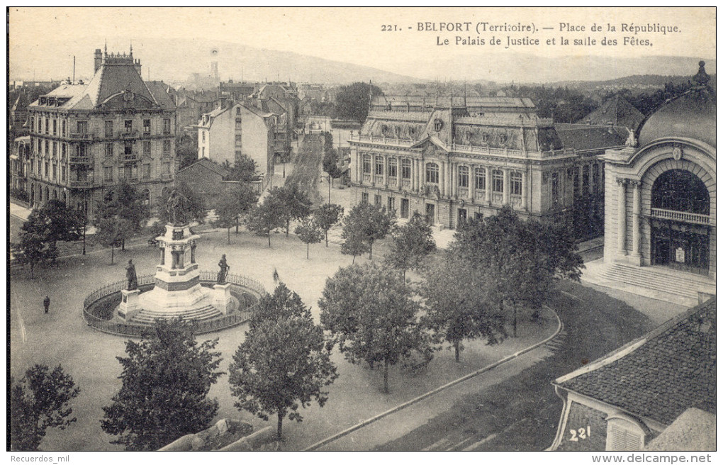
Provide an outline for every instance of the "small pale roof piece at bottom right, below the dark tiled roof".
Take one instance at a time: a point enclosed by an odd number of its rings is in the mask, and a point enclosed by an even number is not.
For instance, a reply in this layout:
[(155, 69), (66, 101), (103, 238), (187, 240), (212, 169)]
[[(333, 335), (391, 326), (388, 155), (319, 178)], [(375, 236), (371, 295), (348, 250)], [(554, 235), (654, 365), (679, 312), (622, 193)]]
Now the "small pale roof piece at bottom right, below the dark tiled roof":
[(651, 440), (645, 450), (715, 451), (716, 416), (701, 409), (688, 409)]

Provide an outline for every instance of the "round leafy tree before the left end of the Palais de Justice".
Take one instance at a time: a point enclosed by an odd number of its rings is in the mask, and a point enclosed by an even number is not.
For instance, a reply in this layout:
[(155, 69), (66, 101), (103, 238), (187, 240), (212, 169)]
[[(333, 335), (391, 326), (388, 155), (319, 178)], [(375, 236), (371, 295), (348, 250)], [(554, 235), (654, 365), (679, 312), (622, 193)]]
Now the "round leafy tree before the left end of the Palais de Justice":
[[(369, 247), (369, 260), (372, 260), (372, 247), (377, 239), (384, 239), (394, 226), (395, 219), (393, 213), (370, 203), (360, 203), (352, 208), (348, 216), (344, 218), (344, 227), (341, 233), (344, 242), (361, 241)], [(345, 247), (342, 246), (341, 253)], [(346, 250), (356, 252), (360, 250), (354, 244), (348, 244)], [(354, 255), (351, 253), (350, 255)]]

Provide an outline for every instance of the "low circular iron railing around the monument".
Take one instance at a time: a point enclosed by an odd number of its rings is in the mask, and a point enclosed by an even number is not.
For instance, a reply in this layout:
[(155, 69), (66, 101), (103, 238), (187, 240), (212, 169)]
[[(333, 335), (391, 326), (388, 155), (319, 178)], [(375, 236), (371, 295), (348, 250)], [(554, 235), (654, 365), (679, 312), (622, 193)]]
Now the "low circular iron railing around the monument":
[[(218, 273), (215, 273), (213, 271), (200, 272), (201, 283), (215, 283), (217, 277)], [(239, 291), (251, 291), (252, 293), (257, 294), (257, 297), (262, 297), (264, 294), (266, 294), (266, 290), (261, 285), (261, 283), (255, 281), (252, 278), (248, 278), (247, 276), (229, 274), (228, 276), (226, 276), (226, 282), (231, 283), (232, 285), (234, 285), (234, 287), (239, 288), (237, 289)], [(122, 289), (125, 289), (126, 283), (127, 281), (125, 280), (108, 283), (105, 286), (95, 289), (95, 291), (88, 294), (88, 296), (85, 297), (85, 300), (83, 301), (83, 317), (85, 318), (85, 322), (91, 328), (103, 331), (104, 333), (134, 337), (150, 336), (154, 332), (153, 326), (151, 325), (144, 325), (142, 323), (119, 323), (114, 320), (103, 320), (103, 318), (96, 317), (95, 315), (93, 315), (93, 313), (90, 312), (90, 307), (95, 304), (95, 302), (98, 302), (98, 300), (103, 299), (104, 297), (108, 297), (111, 294), (120, 292)], [(139, 287), (149, 286), (153, 283), (155, 283), (155, 275), (138, 276)], [(240, 325), (241, 323), (249, 320), (249, 317), (254, 311), (254, 307), (256, 307), (257, 305), (258, 302), (256, 304), (253, 304), (251, 307), (244, 309), (241, 312), (234, 312), (228, 315), (223, 315), (223, 317), (214, 318), (213, 320), (192, 320), (194, 333), (212, 333), (213, 331), (218, 331)]]

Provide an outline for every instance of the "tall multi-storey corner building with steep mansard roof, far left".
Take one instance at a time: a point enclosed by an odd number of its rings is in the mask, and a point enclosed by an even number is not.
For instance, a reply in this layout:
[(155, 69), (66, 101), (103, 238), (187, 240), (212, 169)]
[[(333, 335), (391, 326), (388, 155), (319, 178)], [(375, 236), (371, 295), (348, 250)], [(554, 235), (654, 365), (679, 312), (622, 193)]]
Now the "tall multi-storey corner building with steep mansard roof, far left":
[(30, 104), (27, 192), (95, 215), (120, 179), (150, 204), (173, 181), (176, 106), (163, 82), (144, 82), (130, 54), (95, 51), (87, 84), (66, 82)]

